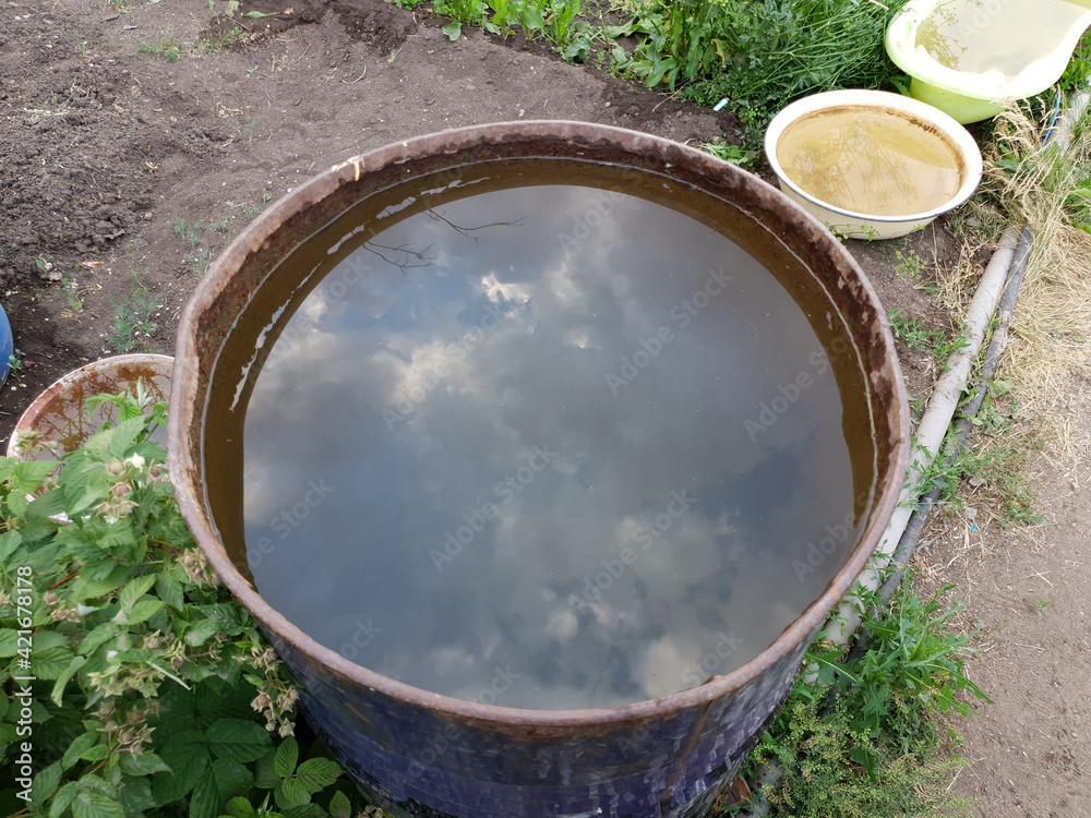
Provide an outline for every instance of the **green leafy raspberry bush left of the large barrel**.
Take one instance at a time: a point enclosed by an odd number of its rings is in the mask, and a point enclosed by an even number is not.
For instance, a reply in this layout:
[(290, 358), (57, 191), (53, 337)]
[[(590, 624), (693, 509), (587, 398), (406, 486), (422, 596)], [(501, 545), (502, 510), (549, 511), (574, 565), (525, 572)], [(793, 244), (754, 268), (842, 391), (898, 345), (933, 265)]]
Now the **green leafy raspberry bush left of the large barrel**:
[(29, 734), (4, 698), (3, 814), (272, 816), (272, 791), (284, 818), (350, 815), (320, 745), (297, 766), (296, 687), (181, 519), (152, 441), (166, 405), (101, 401), (117, 425), (59, 462), (0, 458), (0, 683), (29, 690), (35, 754), (19, 781)]

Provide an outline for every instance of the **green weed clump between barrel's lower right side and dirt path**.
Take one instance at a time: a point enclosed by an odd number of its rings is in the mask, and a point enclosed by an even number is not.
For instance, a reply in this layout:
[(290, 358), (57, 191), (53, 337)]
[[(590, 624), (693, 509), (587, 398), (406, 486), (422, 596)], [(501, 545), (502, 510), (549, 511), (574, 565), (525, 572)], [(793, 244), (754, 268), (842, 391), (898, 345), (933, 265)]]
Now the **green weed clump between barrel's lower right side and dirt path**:
[[(963, 694), (987, 697), (963, 673), (970, 637), (952, 633), (959, 609), (940, 603), (949, 589), (927, 600), (899, 590), (889, 608), (865, 618), (868, 650), (852, 664), (840, 648), (811, 647), (817, 678), (796, 682), (746, 762), (783, 769), (765, 787), (774, 815), (969, 815), (948, 786), (966, 761), (949, 755), (956, 736), (937, 717), (967, 715)], [(843, 693), (823, 714), (829, 685)]]

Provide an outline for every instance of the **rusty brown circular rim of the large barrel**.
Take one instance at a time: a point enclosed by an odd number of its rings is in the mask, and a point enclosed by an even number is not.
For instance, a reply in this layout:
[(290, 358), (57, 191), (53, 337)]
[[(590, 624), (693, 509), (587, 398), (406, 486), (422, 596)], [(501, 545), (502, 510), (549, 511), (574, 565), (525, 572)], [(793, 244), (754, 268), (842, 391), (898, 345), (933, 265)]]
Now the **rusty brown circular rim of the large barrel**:
[[(244, 306), (237, 301), (230, 303), (230, 299), (225, 298), (227, 286), (251, 254), (267, 249), (272, 237), (289, 217), (320, 205), (341, 188), (359, 182), (361, 176), (380, 169), (391, 169), (435, 156), (452, 157), (446, 167), (454, 168), (466, 164), (454, 157), (471, 148), (487, 146), (502, 152), (505, 145), (525, 145), (533, 141), (541, 141), (543, 146), (550, 146), (551, 151), (542, 153), (542, 156), (579, 159), (586, 155), (612, 151), (621, 157), (632, 156), (635, 160), (637, 156), (652, 155), (662, 160), (660, 167), (664, 176), (674, 176), (684, 168), (691, 177), (706, 180), (708, 188), (720, 188), (724, 193), (742, 191), (747, 199), (759, 204), (763, 208), (760, 215), (779, 219), (786, 227), (800, 233), (796, 237), (798, 243), (811, 242), (816, 248), (814, 252), (825, 252), (834, 260), (842, 275), (837, 287), (850, 289), (856, 303), (854, 309), (863, 311), (862, 321), (868, 327), (871, 340), (877, 345), (867, 350), (870, 360), (862, 357), (861, 365), (868, 386), (867, 397), (876, 447), (878, 450), (886, 445), (889, 466), (885, 470), (880, 465), (876, 466), (874, 501), (867, 525), (841, 569), (823, 593), (771, 645), (742, 667), (716, 676), (698, 687), (616, 708), (527, 710), (456, 699), (389, 678), (355, 664), (333, 649), (320, 645), (269, 605), (239, 574), (208, 518), (202, 469), (194, 457), (194, 452), (199, 450), (193, 444), (194, 437), (200, 441), (201, 446), (204, 443), (204, 405), (202, 402), (199, 408), (194, 401), (199, 397), (202, 375), (211, 375), (209, 372), (202, 371), (203, 362), (197, 353), (199, 318), (219, 300), (228, 300), (229, 306)], [(503, 153), (497, 153), (496, 158), (503, 158)], [(716, 195), (708, 188), (703, 190), (709, 195)], [(753, 212), (747, 212), (755, 216)], [(834, 303), (831, 284), (822, 281)], [(853, 324), (853, 341), (859, 344), (861, 333), (855, 328), (854, 322), (849, 323)], [(370, 151), (336, 165), (293, 189), (244, 228), (213, 263), (182, 313), (175, 353), (167, 447), (170, 480), (179, 509), (194, 539), (227, 588), (277, 637), (301, 651), (309, 661), (326, 666), (350, 683), (459, 720), (487, 722), (501, 727), (518, 724), (521, 735), (526, 737), (527, 727), (538, 727), (543, 731), (542, 735), (548, 735), (546, 731), (550, 729), (594, 727), (618, 721), (661, 718), (684, 709), (710, 705), (760, 677), (817, 630), (863, 570), (897, 504), (909, 458), (909, 440), (908, 401), (886, 313), (860, 266), (817, 219), (756, 176), (696, 148), (610, 125), (541, 120), (454, 129)]]

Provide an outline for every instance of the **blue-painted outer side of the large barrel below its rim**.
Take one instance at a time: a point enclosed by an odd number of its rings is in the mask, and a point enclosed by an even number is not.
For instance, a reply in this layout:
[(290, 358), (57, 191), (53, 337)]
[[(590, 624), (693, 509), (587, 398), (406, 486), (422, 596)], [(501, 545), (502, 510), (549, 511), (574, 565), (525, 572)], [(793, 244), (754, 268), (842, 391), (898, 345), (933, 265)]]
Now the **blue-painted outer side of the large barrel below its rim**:
[(734, 779), (791, 689), (808, 641), (704, 706), (536, 735), (542, 731), (515, 719), (457, 720), (393, 698), (269, 636), (299, 682), (308, 722), (384, 806), (413, 818), (682, 816)]

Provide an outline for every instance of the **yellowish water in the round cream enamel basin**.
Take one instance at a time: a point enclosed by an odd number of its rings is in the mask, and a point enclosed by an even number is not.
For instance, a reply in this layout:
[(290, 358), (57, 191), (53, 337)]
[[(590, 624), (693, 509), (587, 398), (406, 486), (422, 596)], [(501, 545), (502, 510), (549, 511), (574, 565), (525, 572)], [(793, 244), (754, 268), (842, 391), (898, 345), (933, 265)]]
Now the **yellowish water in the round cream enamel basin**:
[(793, 122), (777, 143), (777, 159), (815, 199), (868, 216), (942, 207), (962, 181), (955, 148), (930, 125), (860, 107)]

